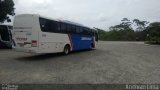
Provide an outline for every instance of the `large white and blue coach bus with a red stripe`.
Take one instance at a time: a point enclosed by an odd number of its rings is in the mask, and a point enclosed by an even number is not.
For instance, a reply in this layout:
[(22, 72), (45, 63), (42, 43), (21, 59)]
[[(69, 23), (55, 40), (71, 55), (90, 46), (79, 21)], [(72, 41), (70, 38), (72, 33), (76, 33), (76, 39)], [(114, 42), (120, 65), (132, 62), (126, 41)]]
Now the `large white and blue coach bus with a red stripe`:
[(71, 51), (95, 49), (98, 32), (78, 23), (21, 14), (14, 19), (15, 50), (29, 53), (69, 54)]

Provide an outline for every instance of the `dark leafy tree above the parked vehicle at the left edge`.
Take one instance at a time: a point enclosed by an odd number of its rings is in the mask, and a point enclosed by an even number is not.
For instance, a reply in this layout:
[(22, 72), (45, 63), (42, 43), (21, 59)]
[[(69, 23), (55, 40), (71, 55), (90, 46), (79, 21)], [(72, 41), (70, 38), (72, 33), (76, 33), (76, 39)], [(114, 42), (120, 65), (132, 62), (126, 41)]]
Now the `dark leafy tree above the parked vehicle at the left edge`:
[(15, 15), (13, 0), (0, 0), (0, 22), (11, 22), (9, 15)]

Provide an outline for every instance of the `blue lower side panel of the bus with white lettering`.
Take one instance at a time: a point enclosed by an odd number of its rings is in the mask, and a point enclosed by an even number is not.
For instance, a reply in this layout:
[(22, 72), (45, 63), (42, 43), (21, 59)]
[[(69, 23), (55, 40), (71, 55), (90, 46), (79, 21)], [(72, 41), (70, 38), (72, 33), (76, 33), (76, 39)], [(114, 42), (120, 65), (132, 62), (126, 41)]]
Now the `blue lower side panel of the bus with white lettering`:
[(71, 34), (73, 50), (83, 50), (92, 48), (94, 40), (92, 36)]

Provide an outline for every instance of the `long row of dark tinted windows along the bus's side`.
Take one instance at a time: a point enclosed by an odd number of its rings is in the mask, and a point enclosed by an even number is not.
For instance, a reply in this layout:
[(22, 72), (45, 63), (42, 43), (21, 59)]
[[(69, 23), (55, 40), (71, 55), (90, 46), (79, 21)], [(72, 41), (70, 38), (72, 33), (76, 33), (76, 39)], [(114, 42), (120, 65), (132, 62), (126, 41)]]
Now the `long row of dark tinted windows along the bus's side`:
[(43, 32), (54, 32), (54, 33), (75, 33), (81, 35), (92, 35), (93, 32), (89, 28), (75, 26), (66, 23), (60, 23), (53, 20), (40, 18), (40, 27)]

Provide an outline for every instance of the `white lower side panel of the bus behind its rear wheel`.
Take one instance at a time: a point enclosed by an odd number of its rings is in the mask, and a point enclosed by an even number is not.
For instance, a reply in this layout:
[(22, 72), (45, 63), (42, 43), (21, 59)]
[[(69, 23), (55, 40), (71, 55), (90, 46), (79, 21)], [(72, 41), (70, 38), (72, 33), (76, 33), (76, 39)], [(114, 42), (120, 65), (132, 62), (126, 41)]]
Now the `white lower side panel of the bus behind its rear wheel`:
[(42, 53), (63, 52), (64, 46), (70, 44), (67, 34), (41, 32), (39, 37)]

